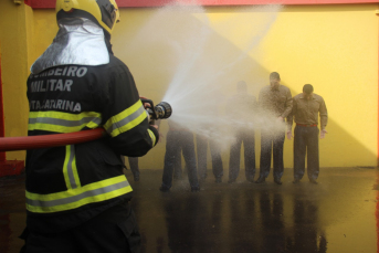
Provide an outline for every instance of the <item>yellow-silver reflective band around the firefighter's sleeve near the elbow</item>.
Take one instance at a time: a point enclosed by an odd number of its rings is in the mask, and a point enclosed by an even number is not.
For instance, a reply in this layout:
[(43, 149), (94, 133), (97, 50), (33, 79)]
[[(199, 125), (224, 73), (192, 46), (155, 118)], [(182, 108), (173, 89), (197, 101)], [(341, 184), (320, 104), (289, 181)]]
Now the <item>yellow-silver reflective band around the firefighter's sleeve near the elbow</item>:
[(130, 130), (138, 126), (147, 117), (146, 110), (140, 101), (136, 102), (129, 108), (110, 117), (104, 125), (104, 128), (112, 137)]

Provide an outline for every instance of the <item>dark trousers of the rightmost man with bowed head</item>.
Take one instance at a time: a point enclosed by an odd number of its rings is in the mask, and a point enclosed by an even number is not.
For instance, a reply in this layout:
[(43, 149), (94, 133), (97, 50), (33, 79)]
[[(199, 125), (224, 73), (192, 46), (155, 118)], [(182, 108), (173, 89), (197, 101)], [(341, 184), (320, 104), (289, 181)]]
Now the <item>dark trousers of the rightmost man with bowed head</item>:
[(295, 127), (294, 137), (294, 178), (302, 179), (305, 172), (305, 155), (307, 155), (308, 178), (317, 179), (319, 172), (317, 127)]

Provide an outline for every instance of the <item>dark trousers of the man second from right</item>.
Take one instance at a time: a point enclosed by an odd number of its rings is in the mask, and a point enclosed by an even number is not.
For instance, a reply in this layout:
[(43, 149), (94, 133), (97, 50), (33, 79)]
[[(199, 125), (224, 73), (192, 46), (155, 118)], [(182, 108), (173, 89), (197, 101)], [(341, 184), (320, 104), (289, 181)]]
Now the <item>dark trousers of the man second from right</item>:
[(281, 179), (284, 170), (283, 162), (283, 146), (285, 131), (269, 133), (261, 131), (261, 161), (260, 177), (267, 178), (271, 168), (271, 155), (273, 154), (274, 161), (274, 178)]

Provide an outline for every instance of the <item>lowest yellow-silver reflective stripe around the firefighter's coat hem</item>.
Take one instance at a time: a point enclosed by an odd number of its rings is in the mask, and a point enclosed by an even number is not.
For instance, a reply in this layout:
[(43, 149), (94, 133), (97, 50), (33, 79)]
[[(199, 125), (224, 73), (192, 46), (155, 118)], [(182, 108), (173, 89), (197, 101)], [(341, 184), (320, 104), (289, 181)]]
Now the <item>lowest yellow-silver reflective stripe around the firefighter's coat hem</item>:
[(38, 213), (66, 211), (87, 203), (113, 199), (131, 191), (129, 182), (123, 175), (64, 192), (36, 194), (27, 191), (27, 209)]

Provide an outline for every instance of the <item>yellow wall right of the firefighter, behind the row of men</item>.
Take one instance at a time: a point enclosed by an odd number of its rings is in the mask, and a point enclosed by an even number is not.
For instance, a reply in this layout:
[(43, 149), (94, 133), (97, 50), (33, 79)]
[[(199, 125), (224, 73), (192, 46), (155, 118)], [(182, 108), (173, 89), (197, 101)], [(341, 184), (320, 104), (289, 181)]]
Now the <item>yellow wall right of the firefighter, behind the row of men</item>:
[[(243, 61), (252, 71), (242, 72), (239, 78), (250, 84), (251, 94), (257, 95), (256, 87), (261, 87), (254, 86), (254, 83), (266, 85), (270, 72), (277, 71), (282, 76), (282, 83), (291, 88), (293, 95), (301, 93), (304, 84), (310, 83), (315, 87), (315, 93), (325, 98), (329, 123), (328, 135), (319, 145), (322, 167), (376, 166), (377, 9), (377, 4), (285, 7), (259, 46), (253, 48), (250, 57)], [(252, 9), (246, 11), (245, 8), (220, 7), (206, 10), (210, 25), (214, 30), (210, 44), (225, 46), (227, 51), (242, 51), (249, 38), (246, 39), (241, 27), (256, 23), (256, 18), (267, 15), (260, 9), (255, 13)], [(135, 36), (140, 36), (140, 30), (149, 25), (149, 19), (154, 18), (155, 12), (155, 9), (123, 10), (123, 20), (116, 28), (114, 43), (116, 54), (120, 55), (134, 73), (140, 93), (159, 101), (175, 70), (170, 57), (167, 56), (172, 53), (169, 49), (171, 45), (165, 49), (161, 43), (155, 45), (138, 40), (137, 45), (143, 50), (138, 51), (137, 46), (128, 50), (130, 41), (134, 41)], [(194, 12), (193, 19), (201, 20), (199, 15), (201, 14)], [(234, 27), (230, 24), (233, 22), (236, 23)], [(162, 31), (165, 29), (161, 28)], [(148, 34), (149, 31), (140, 38), (149, 40)], [(180, 35), (179, 32), (178, 36)], [(154, 36), (151, 34), (151, 38)], [(172, 70), (167, 70), (168, 67)], [(256, 139), (260, 139), (259, 133)], [(165, 145), (160, 145), (148, 154), (152, 159), (143, 159), (141, 165), (155, 168), (155, 161), (158, 161), (161, 168), (164, 151)], [(257, 141), (257, 167), (259, 154)], [(285, 167), (293, 166), (292, 156), (293, 140), (286, 139)], [(229, 155), (225, 151), (225, 168), (228, 160)]]

